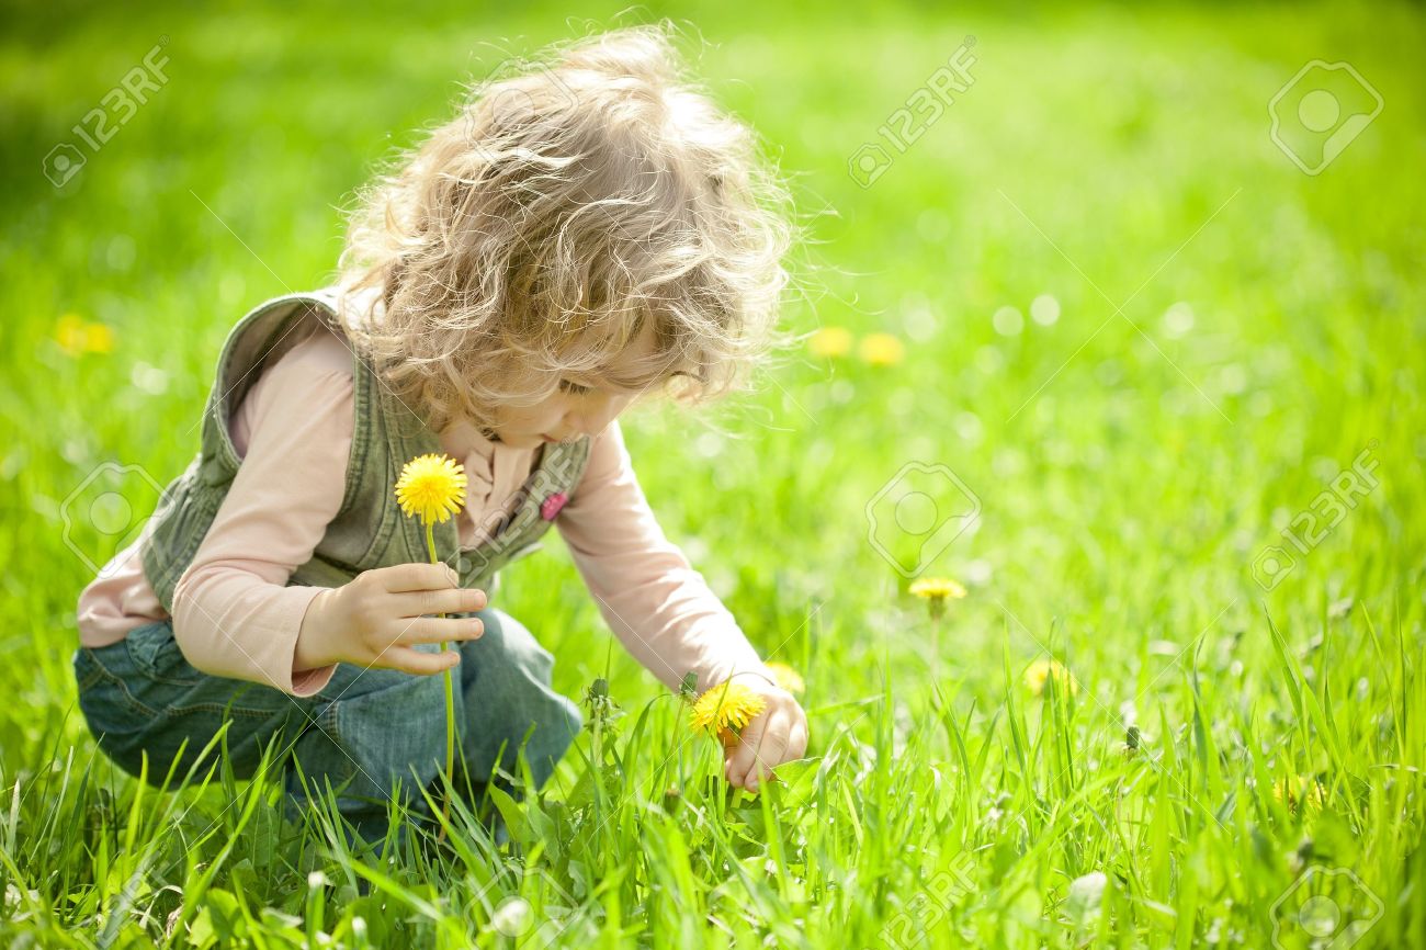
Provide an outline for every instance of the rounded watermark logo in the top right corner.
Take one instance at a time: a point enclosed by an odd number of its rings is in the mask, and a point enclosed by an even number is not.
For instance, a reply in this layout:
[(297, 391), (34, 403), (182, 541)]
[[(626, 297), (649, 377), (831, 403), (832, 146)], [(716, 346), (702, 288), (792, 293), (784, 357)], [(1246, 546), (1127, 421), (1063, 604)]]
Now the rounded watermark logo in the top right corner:
[(1382, 114), (1382, 96), (1350, 63), (1312, 60), (1278, 90), (1268, 114), (1278, 148), (1318, 175)]

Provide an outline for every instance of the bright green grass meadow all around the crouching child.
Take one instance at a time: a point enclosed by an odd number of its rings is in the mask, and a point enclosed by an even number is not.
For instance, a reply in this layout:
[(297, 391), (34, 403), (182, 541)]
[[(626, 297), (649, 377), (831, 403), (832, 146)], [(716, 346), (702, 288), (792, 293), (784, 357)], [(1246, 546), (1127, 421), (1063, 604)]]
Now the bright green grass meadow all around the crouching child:
[[(502, 39), (568, 36), (563, 7), (6, 14), (6, 946), (499, 946), (491, 913), (523, 887), (536, 917), (578, 904), (560, 940), (585, 947), (1265, 947), (1312, 867), (1380, 902), (1355, 946), (1426, 944), (1426, 19), (770, 6), (646, 16), (702, 31), (699, 71), (793, 177), (816, 242), (787, 325), (888, 331), (907, 359), (791, 354), (752, 397), (625, 429), (669, 535), (804, 672), (809, 760), (729, 796), (615, 649), (627, 715), (597, 755), (580, 739), (513, 846), (461, 823), (389, 862), (347, 853), (329, 814), (279, 826), (267, 783), (201, 769), (160, 792), (96, 752), (70, 669), (90, 569), (64, 502), (106, 462), (178, 472), (231, 321), (325, 282), (372, 163), (443, 118)], [(967, 34), (973, 88), (857, 187), (847, 158)], [(41, 158), (161, 36), (171, 81), (53, 188)], [(1318, 177), (1266, 110), (1313, 58), (1385, 101)], [(1028, 318), (1042, 294), (1051, 325)], [(1018, 334), (997, 332), (1001, 307)], [(64, 355), (66, 312), (111, 327), (113, 352)], [(1363, 451), (1376, 486), (1265, 591), (1259, 553)], [(930, 569), (970, 586), (940, 633), (867, 542), (867, 502), (913, 461), (983, 505)], [(610, 638), (548, 546), (501, 606), (583, 696)], [(1025, 689), (1047, 655), (1078, 693)], [(1320, 793), (1271, 793), (1296, 776)], [(1072, 886), (1094, 873), (1098, 900)]]

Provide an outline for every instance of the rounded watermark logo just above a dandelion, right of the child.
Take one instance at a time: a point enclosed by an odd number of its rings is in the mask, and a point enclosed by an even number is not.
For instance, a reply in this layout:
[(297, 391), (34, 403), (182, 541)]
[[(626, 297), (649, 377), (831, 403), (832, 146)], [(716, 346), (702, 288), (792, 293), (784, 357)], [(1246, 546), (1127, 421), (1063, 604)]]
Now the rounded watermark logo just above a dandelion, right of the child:
[(948, 465), (907, 462), (867, 502), (867, 541), (914, 578), (980, 518), (980, 498)]

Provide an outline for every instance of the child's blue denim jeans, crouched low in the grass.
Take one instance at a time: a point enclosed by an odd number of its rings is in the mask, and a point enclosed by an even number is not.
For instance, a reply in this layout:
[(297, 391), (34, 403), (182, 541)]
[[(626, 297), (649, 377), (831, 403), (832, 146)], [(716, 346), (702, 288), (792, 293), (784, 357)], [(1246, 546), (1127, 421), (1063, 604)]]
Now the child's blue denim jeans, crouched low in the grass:
[[(485, 622), (485, 635), (453, 645), (461, 650), (453, 670), (456, 787), (472, 796), (486, 783), (513, 792), (495, 769), (518, 775), (520, 752), (536, 787), (542, 786), (579, 735), (579, 706), (550, 688), (553, 656), (519, 620), (493, 608), (471, 616)], [(441, 648), (419, 643), (415, 649), (436, 653)], [(254, 777), (264, 746), (275, 737), (279, 755), (270, 767), (274, 775), (281, 767), (289, 817), (298, 814), (307, 792), (297, 770), (288, 767), (288, 755), (299, 762), (314, 795), (322, 793), (324, 780), (331, 783), (338, 810), (366, 842), (386, 834), (386, 802), (394, 793), (414, 814), (431, 814), (416, 776), (432, 797), (441, 787), (445, 673), (422, 676), (338, 663), (321, 692), (292, 696), (194, 669), (174, 640), (171, 622), (163, 620), (130, 630), (117, 643), (80, 646), (74, 676), (80, 709), (100, 749), (134, 776), (147, 755), (148, 780), (155, 785), (175, 757), (175, 777), (181, 779), (231, 719), (228, 757), (240, 779)], [(180, 755), (184, 739), (188, 745)], [(200, 773), (217, 756), (215, 747)], [(462, 756), (475, 787), (462, 782)], [(404, 827), (398, 836), (405, 837)]]

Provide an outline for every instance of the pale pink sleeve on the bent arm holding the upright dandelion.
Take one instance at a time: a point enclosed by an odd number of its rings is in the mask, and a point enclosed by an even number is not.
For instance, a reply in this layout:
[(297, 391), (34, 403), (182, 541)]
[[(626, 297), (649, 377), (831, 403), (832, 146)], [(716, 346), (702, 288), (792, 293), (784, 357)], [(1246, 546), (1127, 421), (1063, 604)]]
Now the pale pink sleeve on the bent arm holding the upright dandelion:
[(242, 399), (232, 422), (242, 464), (174, 589), (174, 639), (197, 669), (294, 696), (331, 680), (335, 663), (294, 669), (322, 588), (287, 581), (341, 508), (352, 415), (351, 354), (327, 332), (294, 347)]

